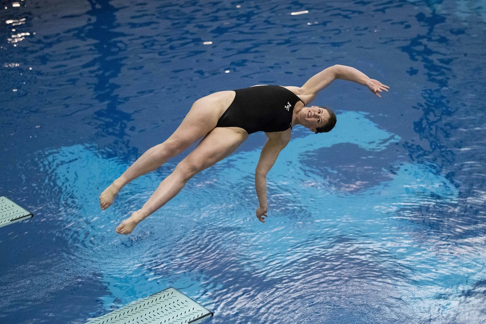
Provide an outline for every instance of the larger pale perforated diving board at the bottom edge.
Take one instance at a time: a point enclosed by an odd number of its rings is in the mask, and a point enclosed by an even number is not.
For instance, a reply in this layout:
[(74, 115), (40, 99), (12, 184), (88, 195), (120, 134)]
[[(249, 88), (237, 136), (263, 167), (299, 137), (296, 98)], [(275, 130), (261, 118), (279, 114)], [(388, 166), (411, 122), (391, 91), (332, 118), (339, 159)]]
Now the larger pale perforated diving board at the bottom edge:
[(86, 324), (196, 324), (211, 316), (208, 308), (170, 287)]

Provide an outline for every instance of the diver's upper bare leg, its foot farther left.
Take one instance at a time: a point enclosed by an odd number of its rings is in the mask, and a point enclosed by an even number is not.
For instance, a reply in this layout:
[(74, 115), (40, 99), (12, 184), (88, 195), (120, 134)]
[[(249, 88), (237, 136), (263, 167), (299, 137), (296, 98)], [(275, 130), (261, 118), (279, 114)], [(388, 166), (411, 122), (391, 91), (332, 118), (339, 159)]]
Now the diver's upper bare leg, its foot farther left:
[[(228, 96), (229, 95), (229, 96)], [(174, 134), (165, 142), (148, 149), (121, 176), (100, 195), (100, 207), (107, 209), (121, 188), (130, 181), (154, 171), (170, 158), (184, 151), (194, 142), (208, 134), (221, 116), (222, 107), (232, 101), (231, 93), (227, 91), (203, 97), (191, 107)], [(227, 105), (229, 105), (227, 104)], [(227, 106), (226, 106), (227, 107)]]

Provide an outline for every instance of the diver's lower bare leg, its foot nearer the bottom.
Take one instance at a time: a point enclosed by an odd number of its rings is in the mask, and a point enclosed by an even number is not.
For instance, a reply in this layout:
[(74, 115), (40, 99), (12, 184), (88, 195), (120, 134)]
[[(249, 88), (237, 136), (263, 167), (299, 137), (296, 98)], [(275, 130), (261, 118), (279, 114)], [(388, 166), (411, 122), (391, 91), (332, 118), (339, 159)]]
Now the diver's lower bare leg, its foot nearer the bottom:
[(236, 127), (211, 130), (199, 146), (177, 164), (174, 172), (160, 183), (143, 207), (121, 222), (117, 233), (131, 233), (139, 222), (174, 198), (195, 174), (226, 158), (247, 137), (246, 131)]

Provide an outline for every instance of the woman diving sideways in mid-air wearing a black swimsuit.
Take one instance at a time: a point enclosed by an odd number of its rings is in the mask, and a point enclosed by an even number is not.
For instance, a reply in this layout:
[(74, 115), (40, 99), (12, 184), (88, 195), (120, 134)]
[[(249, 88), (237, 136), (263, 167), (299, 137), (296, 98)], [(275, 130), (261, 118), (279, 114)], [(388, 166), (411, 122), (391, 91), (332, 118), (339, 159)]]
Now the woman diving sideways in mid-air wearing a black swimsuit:
[(226, 158), (240, 146), (248, 134), (264, 131), (268, 137), (261, 149), (255, 170), (255, 189), (260, 206), (260, 222), (267, 215), (266, 176), (287, 146), (292, 127), (302, 125), (314, 133), (328, 132), (336, 124), (329, 108), (305, 107), (317, 93), (336, 79), (363, 84), (378, 97), (388, 86), (368, 78), (357, 69), (334, 65), (317, 73), (303, 86), (256, 85), (235, 91), (221, 91), (198, 99), (180, 126), (164, 143), (150, 148), (120, 178), (100, 195), (100, 206), (108, 208), (121, 188), (135, 178), (154, 171), (170, 158), (203, 138), (199, 145), (165, 178), (141, 209), (121, 222), (119, 234), (130, 234), (154, 211), (174, 198), (186, 182), (198, 172)]

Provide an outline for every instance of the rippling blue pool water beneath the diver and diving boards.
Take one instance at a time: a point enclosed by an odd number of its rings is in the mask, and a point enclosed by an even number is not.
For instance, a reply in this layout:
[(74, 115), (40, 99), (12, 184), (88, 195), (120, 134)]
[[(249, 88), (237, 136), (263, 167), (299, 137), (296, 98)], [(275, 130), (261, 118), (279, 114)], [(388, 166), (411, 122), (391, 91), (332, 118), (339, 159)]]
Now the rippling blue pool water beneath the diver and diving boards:
[[(170, 286), (214, 324), (486, 323), (485, 1), (1, 4), (0, 195), (35, 214), (0, 228), (1, 324), (81, 324)], [(100, 192), (194, 100), (334, 64), (391, 91), (320, 93), (338, 124), (293, 130), (265, 224), (256, 133), (115, 233), (184, 154), (106, 211)]]

